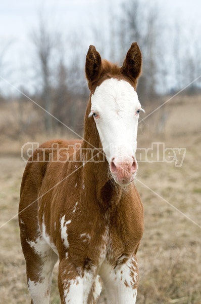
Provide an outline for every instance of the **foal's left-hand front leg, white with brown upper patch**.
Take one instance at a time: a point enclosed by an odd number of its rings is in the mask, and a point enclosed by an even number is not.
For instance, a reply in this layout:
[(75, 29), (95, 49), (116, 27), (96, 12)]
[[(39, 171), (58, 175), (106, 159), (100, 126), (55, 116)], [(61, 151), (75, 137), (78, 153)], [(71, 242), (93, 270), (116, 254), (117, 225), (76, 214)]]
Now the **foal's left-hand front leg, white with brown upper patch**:
[[(94, 283), (97, 286), (94, 289), (93, 301), (90, 295)], [(95, 267), (87, 267), (85, 270), (80, 267), (76, 268), (67, 255), (59, 263), (58, 287), (62, 304), (95, 304), (100, 289), (96, 282)]]

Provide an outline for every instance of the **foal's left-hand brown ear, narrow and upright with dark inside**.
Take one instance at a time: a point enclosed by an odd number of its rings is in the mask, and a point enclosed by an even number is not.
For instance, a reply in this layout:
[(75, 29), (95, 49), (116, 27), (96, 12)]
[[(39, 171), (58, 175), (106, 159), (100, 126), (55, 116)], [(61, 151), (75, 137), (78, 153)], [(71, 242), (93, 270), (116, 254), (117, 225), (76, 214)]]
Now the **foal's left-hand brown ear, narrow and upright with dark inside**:
[(85, 73), (88, 83), (93, 83), (98, 80), (101, 70), (102, 59), (100, 54), (96, 51), (94, 46), (89, 46), (85, 63)]

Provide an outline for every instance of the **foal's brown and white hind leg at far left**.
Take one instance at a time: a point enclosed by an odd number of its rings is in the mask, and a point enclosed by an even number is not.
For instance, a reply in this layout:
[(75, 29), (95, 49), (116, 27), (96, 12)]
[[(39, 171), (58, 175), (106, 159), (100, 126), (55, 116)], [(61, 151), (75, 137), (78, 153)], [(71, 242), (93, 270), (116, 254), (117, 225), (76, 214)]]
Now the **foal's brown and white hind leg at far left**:
[(23, 251), (31, 304), (49, 304), (52, 272), (58, 256), (41, 236), (28, 241)]

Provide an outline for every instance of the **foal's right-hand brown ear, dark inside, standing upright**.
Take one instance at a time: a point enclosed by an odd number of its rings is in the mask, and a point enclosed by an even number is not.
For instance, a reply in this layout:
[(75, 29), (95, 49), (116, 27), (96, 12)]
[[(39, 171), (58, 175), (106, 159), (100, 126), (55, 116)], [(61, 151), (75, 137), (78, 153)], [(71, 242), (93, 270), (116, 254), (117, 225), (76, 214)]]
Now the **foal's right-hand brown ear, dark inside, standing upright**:
[(121, 72), (134, 84), (141, 73), (142, 54), (136, 42), (133, 42), (121, 67)]

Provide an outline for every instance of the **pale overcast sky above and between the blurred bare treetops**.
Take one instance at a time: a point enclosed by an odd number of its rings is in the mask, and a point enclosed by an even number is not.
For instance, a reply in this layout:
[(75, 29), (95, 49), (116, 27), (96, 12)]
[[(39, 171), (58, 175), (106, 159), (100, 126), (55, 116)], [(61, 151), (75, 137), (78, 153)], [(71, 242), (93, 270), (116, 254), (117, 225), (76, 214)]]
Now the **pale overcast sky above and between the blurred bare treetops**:
[[(149, 1), (149, 0), (144, 0)], [(2, 1), (0, 9), (0, 56), (7, 42), (12, 41), (4, 56), (5, 62), (9, 62), (16, 72), (9, 77), (4, 68), (0, 70), (0, 76), (10, 82), (20, 76), (17, 70), (23, 70), (28, 64), (29, 33), (37, 26), (38, 10), (42, 9), (50, 17), (52, 24), (67, 36), (71, 32), (81, 33), (84, 40), (84, 50), (87, 51), (89, 44), (95, 45), (95, 39), (90, 35), (92, 24), (99, 22), (104, 25), (104, 16), (108, 9), (116, 11), (122, 0), (7, 0)], [(156, 0), (161, 7), (161, 17), (165, 19), (166, 26), (171, 26), (173, 20), (186, 28), (186, 31), (198, 30), (201, 32), (201, 1), (200, 0)], [(101, 17), (100, 17), (101, 16)], [(73, 39), (73, 37), (72, 37)], [(98, 39), (98, 37), (97, 37)], [(1, 59), (1, 58), (0, 58)], [(1, 61), (0, 61), (1, 68)], [(24, 81), (24, 80), (23, 80)], [(1, 82), (2, 83), (2, 82)], [(2, 88), (2, 84), (0, 87)]]

